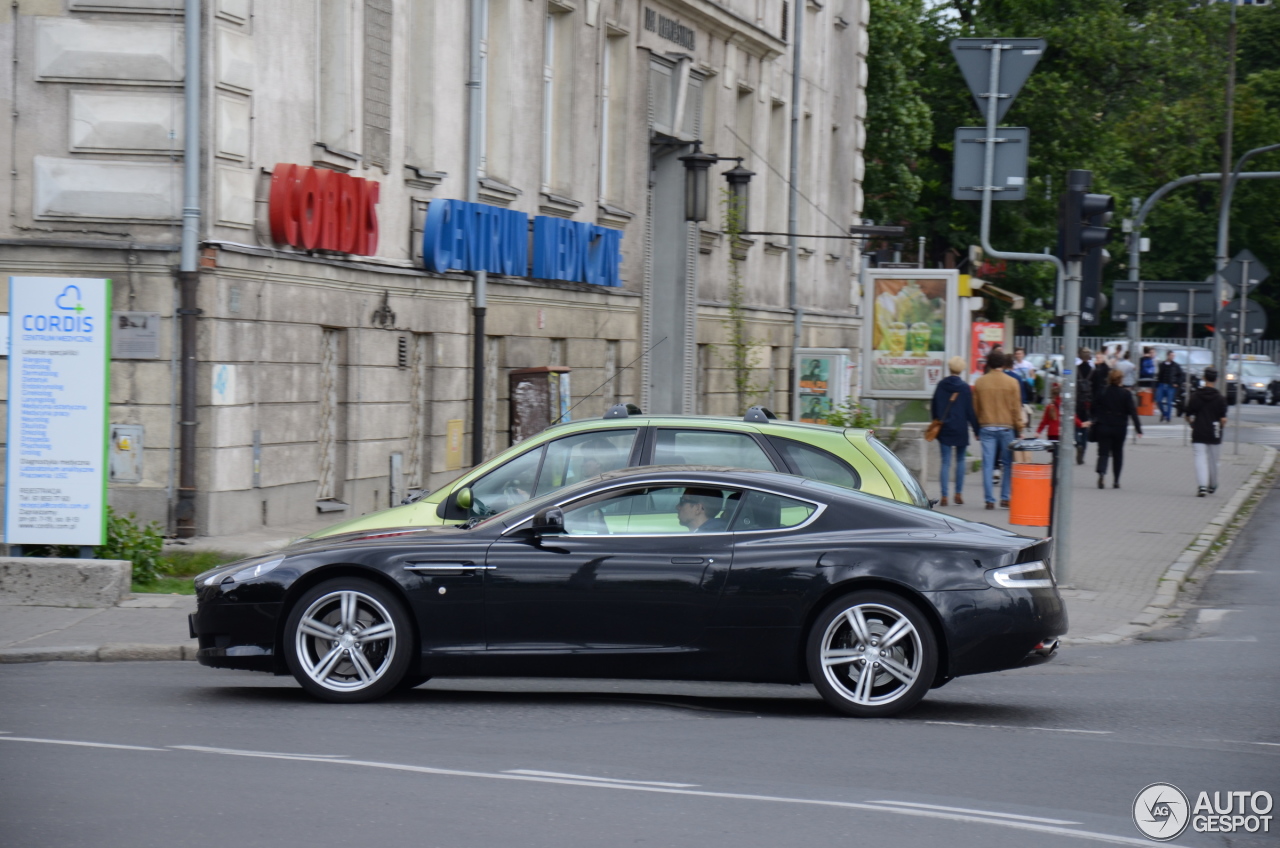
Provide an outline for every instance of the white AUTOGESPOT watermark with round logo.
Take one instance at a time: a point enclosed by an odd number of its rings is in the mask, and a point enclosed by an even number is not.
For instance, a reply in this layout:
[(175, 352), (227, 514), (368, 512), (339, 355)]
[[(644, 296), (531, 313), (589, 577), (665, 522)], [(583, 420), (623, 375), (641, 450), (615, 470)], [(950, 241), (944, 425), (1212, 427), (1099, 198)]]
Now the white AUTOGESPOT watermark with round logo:
[(1169, 842), (1187, 826), (1196, 833), (1271, 833), (1271, 793), (1248, 789), (1201, 792), (1192, 804), (1171, 783), (1153, 783), (1133, 799), (1133, 824), (1147, 839)]

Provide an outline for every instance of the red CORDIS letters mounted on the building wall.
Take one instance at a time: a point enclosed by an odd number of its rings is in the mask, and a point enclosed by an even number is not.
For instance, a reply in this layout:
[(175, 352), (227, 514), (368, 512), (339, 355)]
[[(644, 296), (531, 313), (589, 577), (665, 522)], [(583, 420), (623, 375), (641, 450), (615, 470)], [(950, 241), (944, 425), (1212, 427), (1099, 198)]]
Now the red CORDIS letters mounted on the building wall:
[(371, 256), (378, 252), (378, 193), (372, 179), (278, 164), (271, 172), (271, 238), (302, 250)]

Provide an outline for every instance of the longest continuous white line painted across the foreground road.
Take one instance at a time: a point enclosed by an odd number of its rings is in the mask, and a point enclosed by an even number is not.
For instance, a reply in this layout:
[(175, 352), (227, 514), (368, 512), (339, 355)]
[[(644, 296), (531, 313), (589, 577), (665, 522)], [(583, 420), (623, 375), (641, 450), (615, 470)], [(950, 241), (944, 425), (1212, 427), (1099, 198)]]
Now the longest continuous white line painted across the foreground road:
[(321, 757), (306, 757), (294, 754), (275, 754), (275, 753), (253, 753), (251, 751), (221, 751), (218, 748), (196, 748), (195, 746), (187, 748), (193, 751), (200, 751), (202, 753), (223, 753), (224, 756), (237, 756), (237, 757), (264, 757), (266, 760), (297, 760), (306, 762), (320, 762), (333, 766), (360, 766), (364, 769), (387, 769), (390, 771), (407, 771), (411, 774), (422, 775), (438, 775), (445, 778), (479, 778), (483, 780), (520, 780), (526, 783), (547, 783), (547, 784), (559, 784), (566, 787), (590, 787), (595, 789), (614, 789), (614, 790), (627, 790), (627, 792), (649, 792), (667, 795), (689, 795), (696, 798), (718, 798), (722, 801), (756, 801), (756, 802), (771, 802), (771, 803), (787, 803), (787, 804), (804, 804), (810, 807), (836, 807), (840, 810), (861, 810), (868, 812), (887, 812), (899, 816), (915, 816), (918, 819), (941, 819), (945, 821), (963, 821), (969, 824), (982, 824), (982, 825), (997, 825), (1001, 828), (1011, 828), (1015, 830), (1030, 830), (1034, 833), (1047, 833), (1060, 836), (1074, 836), (1076, 839), (1084, 839), (1088, 842), (1105, 842), (1115, 845), (1149, 845), (1151, 843), (1146, 839), (1134, 839), (1132, 836), (1120, 836), (1116, 834), (1094, 833), (1089, 830), (1073, 830), (1070, 828), (1062, 828), (1060, 825), (1044, 825), (1034, 821), (1016, 821), (1006, 819), (987, 819), (982, 816), (972, 816), (965, 813), (942, 812), (938, 810), (918, 810), (910, 807), (893, 807), (879, 803), (865, 803), (856, 801), (824, 801), (820, 798), (788, 798), (785, 795), (759, 795), (749, 793), (737, 792), (712, 792), (708, 789), (676, 789), (673, 787), (641, 787), (636, 784), (627, 783), (602, 783), (598, 780), (567, 780), (564, 778), (539, 778), (534, 775), (516, 775), (516, 774), (503, 774), (492, 771), (463, 771), (461, 769), (433, 769), (430, 766), (410, 766), (396, 762), (376, 762), (370, 760), (333, 760)]

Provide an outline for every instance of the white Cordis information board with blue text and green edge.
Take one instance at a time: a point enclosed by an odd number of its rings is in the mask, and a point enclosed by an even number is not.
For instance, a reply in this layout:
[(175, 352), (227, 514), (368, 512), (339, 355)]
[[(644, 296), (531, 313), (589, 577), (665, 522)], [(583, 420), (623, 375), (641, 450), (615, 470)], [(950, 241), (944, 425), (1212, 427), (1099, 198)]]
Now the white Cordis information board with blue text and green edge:
[(9, 278), (5, 542), (106, 538), (111, 281)]

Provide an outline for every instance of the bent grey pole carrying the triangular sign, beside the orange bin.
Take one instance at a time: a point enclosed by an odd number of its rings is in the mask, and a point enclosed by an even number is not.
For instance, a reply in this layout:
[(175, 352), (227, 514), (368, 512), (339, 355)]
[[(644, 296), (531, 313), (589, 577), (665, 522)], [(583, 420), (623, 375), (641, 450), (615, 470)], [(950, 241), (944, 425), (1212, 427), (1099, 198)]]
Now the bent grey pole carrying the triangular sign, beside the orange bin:
[[(982, 250), (987, 256), (993, 259), (1005, 259), (1012, 261), (1024, 263), (1052, 263), (1057, 269), (1057, 284), (1059, 287), (1066, 286), (1066, 313), (1062, 318), (1062, 355), (1064, 365), (1062, 375), (1065, 378), (1073, 377), (1073, 357), (1075, 356), (1075, 348), (1079, 346), (1080, 334), (1080, 263), (1073, 263), (1075, 266), (1074, 286), (1071, 284), (1071, 278), (1066, 277), (1062, 261), (1053, 256), (1052, 254), (1014, 254), (996, 250), (991, 246), (991, 202), (993, 200), (992, 190), (996, 182), (996, 124), (998, 123), (997, 109), (1000, 106), (1000, 100), (1007, 97), (1009, 95), (1000, 92), (1000, 56), (1005, 50), (1012, 49), (1012, 45), (1006, 44), (989, 44), (983, 45), (984, 50), (991, 50), (991, 72), (987, 82), (987, 92), (979, 95), (986, 100), (987, 106), (987, 137), (983, 140), (986, 146), (986, 152), (983, 158), (983, 170), (982, 170), (982, 229), (980, 229), (980, 243)], [(1075, 443), (1075, 380), (1064, 379), (1062, 380), (1062, 421), (1061, 421), (1061, 439), (1059, 441), (1059, 450), (1062, 444)], [(1021, 436), (1019, 433), (1019, 436)], [(1059, 462), (1059, 479), (1057, 497), (1053, 500), (1056, 515), (1053, 516), (1055, 528), (1055, 541), (1053, 541), (1053, 574), (1057, 578), (1059, 585), (1066, 583), (1068, 575), (1068, 530), (1070, 529), (1071, 521), (1071, 469), (1074, 464)]]

